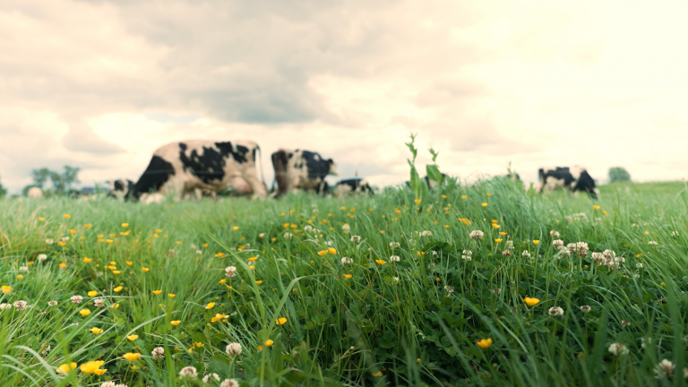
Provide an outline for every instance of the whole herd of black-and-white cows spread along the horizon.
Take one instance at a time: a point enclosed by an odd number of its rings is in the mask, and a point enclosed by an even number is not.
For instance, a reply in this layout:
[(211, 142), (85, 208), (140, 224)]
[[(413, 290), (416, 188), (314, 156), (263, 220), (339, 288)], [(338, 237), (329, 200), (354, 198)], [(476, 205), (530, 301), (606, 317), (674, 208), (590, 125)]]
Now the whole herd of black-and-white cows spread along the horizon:
[[(341, 196), (349, 193), (372, 193), (365, 179), (340, 180), (333, 189), (325, 182), (328, 175), (337, 176), (337, 165), (320, 153), (309, 150), (280, 149), (271, 155), (275, 183), (268, 192), (264, 179), (258, 178), (257, 161), (260, 147), (251, 141), (213, 142), (193, 140), (171, 142), (153, 152), (148, 167), (139, 180), (121, 178), (110, 181), (110, 195), (124, 200), (144, 203), (161, 202), (167, 195), (176, 200), (202, 196), (217, 197), (217, 193), (231, 188), (236, 194), (263, 199), (280, 197), (290, 191), (304, 190)], [(520, 180), (518, 174), (510, 176)], [(431, 182), (426, 177), (428, 185)], [(540, 168), (536, 193), (556, 189), (587, 192), (597, 198), (595, 181), (585, 168)], [(29, 193), (32, 196), (32, 193)]]

